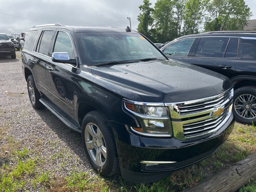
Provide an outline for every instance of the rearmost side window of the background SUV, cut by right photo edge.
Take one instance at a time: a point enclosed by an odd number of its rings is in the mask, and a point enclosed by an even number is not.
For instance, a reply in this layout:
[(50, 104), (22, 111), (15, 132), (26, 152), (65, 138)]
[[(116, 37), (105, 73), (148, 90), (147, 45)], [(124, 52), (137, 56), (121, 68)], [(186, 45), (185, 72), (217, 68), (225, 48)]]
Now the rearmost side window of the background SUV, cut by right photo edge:
[(240, 53), (242, 58), (255, 60), (256, 59), (256, 39), (244, 39), (240, 41)]

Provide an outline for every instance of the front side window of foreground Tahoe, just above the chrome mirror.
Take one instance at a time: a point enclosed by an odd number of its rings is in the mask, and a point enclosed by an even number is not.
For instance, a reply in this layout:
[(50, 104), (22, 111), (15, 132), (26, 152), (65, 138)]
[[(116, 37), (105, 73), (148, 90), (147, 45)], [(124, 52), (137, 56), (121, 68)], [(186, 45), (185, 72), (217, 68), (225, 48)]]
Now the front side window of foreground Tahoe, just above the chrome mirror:
[(74, 49), (67, 33), (58, 32), (53, 52), (68, 52), (69, 57), (74, 58)]

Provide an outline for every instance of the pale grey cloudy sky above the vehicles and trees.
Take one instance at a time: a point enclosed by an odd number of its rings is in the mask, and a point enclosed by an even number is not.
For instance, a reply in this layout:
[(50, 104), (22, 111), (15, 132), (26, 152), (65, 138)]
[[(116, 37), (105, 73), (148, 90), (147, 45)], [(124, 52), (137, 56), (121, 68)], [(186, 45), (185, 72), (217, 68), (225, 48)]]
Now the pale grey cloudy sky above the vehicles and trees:
[[(152, 7), (156, 0), (150, 0)], [(256, 19), (256, 0), (245, 0)], [(34, 25), (59, 23), (125, 28), (138, 27), (143, 0), (1, 0), (0, 32), (20, 34)]]

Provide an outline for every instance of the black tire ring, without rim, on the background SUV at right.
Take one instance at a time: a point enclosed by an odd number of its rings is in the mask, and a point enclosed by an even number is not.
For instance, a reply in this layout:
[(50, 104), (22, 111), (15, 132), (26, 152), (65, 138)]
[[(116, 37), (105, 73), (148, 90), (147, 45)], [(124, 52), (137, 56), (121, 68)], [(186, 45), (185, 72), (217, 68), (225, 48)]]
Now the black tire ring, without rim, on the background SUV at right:
[[(238, 98), (240, 95), (244, 95), (244, 94), (250, 94), (250, 95), (253, 95), (253, 96), (256, 96), (256, 87), (253, 87), (253, 86), (246, 86), (246, 87), (241, 87), (241, 88), (238, 88), (234, 91), (234, 102), (236, 100), (236, 98)], [(237, 112), (235, 111), (234, 109), (234, 104), (233, 104), (233, 107), (232, 107), (232, 111), (236, 117), (236, 120), (238, 122), (241, 122), (243, 124), (252, 124), (252, 122), (254, 124), (256, 124), (256, 118), (254, 119), (245, 119), (245, 118), (242, 118), (241, 116), (239, 116), (237, 114)]]

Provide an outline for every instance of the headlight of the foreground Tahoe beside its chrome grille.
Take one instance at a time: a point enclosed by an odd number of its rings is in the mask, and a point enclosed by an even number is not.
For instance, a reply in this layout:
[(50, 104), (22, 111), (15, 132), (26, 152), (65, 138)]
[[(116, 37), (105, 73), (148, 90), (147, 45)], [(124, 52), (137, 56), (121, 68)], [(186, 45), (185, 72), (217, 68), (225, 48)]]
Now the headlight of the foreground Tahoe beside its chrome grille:
[(140, 127), (130, 127), (132, 131), (145, 136), (172, 136), (169, 110), (164, 104), (124, 100), (124, 108), (134, 114), (140, 124)]

